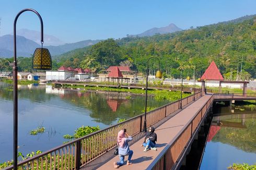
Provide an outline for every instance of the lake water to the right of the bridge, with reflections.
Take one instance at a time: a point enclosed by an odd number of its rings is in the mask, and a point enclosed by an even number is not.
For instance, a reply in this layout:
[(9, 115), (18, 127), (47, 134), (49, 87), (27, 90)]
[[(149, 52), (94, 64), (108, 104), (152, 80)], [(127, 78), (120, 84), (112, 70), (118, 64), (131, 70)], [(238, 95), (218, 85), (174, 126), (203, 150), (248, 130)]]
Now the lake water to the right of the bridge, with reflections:
[(208, 134), (200, 169), (227, 169), (233, 163), (256, 163), (256, 112), (218, 107)]

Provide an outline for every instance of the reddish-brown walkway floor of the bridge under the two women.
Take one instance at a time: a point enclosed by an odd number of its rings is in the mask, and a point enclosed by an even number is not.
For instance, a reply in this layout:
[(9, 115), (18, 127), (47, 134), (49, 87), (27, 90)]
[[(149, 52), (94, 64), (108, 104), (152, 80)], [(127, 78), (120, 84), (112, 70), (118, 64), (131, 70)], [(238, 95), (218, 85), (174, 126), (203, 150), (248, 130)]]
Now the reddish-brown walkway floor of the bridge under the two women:
[[(171, 117), (167, 122), (156, 128), (157, 133), (157, 151), (149, 150), (143, 152), (144, 147), (141, 144), (144, 138), (138, 140), (130, 146), (133, 150), (133, 156), (131, 162), (132, 165), (120, 166), (120, 169), (146, 169), (150, 163), (158, 156), (158, 154), (167, 147), (168, 143), (177, 136), (177, 134), (182, 130), (182, 128), (191, 120), (193, 116), (200, 110), (200, 108), (210, 100), (211, 95), (204, 95), (202, 98), (198, 99), (194, 103), (190, 104), (182, 111), (180, 111), (175, 116)], [(129, 131), (127, 131), (129, 133)], [(114, 156), (113, 159), (104, 163), (102, 166), (97, 167), (97, 169), (113, 169), (113, 162), (119, 161), (119, 156)], [(125, 156), (125, 163), (127, 161), (127, 156)], [(81, 169), (89, 169), (88, 167), (82, 167)], [(95, 169), (94, 167), (93, 169)]]

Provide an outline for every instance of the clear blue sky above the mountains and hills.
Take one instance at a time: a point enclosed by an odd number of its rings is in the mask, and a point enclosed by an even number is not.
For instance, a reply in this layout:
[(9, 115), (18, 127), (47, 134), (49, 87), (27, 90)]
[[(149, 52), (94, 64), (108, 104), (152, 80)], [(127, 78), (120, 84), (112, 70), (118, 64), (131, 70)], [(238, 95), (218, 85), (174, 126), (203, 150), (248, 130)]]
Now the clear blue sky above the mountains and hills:
[[(44, 33), (64, 42), (123, 38), (170, 23), (182, 29), (227, 21), (256, 14), (255, 0), (93, 0), (49, 1), (26, 0), (0, 2), (0, 36), (13, 32), (17, 13), (24, 8), (36, 9), (44, 23)], [(40, 31), (40, 22), (31, 12), (23, 13), (17, 29)]]

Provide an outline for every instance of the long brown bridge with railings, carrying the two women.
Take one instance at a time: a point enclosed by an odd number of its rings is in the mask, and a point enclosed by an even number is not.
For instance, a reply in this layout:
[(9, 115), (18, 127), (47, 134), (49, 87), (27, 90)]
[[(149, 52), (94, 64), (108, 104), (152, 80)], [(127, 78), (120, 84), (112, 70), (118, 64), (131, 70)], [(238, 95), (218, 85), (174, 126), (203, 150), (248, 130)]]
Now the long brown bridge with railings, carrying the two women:
[[(221, 98), (220, 98), (221, 97)], [(113, 162), (119, 160), (113, 155), (117, 133), (127, 129), (133, 136), (130, 143), (134, 151), (132, 165), (120, 169), (179, 169), (190, 145), (197, 136), (201, 124), (210, 111), (214, 100), (235, 100), (234, 95), (206, 94), (197, 92), (182, 101), (175, 101), (147, 113), (147, 125), (156, 127), (157, 151), (143, 152), (144, 114), (125, 122), (91, 133), (85, 137), (62, 144), (59, 147), (20, 161), (20, 169), (113, 169)], [(254, 94), (243, 100), (256, 100)], [(182, 109), (180, 109), (182, 104)], [(9, 166), (5, 169), (12, 169)]]

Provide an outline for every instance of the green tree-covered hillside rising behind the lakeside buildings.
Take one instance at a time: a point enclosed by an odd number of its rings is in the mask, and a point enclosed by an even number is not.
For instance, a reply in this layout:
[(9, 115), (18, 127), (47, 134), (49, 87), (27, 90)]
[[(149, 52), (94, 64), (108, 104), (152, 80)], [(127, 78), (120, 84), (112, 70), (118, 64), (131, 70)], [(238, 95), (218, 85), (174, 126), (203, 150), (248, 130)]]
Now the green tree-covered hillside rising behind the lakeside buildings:
[[(87, 48), (79, 48), (58, 58), (58, 66), (90, 68), (99, 71), (111, 65), (127, 65), (144, 72), (150, 56), (160, 58), (165, 77), (201, 76), (215, 61), (225, 79), (256, 78), (256, 17), (234, 22), (220, 22), (171, 34), (153, 37), (108, 39)], [(157, 60), (150, 60), (150, 70), (156, 70)], [(237, 74), (237, 70), (239, 74)]]

